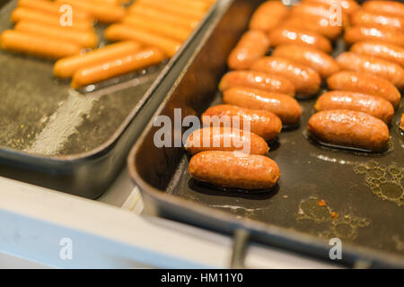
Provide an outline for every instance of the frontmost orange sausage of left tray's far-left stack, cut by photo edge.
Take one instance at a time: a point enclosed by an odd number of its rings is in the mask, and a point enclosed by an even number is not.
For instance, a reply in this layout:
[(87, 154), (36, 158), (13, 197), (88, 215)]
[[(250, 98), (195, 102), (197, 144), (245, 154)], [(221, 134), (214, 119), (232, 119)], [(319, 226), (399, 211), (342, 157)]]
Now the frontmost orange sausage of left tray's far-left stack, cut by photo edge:
[(1, 48), (6, 51), (57, 59), (80, 53), (81, 47), (66, 41), (32, 35), (17, 30), (4, 30)]

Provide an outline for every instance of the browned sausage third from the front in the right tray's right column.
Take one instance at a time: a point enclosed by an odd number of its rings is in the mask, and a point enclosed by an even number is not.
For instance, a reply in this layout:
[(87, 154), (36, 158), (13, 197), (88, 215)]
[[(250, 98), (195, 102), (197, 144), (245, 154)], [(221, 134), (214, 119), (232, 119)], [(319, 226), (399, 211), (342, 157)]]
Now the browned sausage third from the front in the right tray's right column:
[(338, 72), (327, 79), (330, 90), (356, 91), (389, 100), (397, 108), (401, 95), (389, 81), (372, 74), (356, 72)]

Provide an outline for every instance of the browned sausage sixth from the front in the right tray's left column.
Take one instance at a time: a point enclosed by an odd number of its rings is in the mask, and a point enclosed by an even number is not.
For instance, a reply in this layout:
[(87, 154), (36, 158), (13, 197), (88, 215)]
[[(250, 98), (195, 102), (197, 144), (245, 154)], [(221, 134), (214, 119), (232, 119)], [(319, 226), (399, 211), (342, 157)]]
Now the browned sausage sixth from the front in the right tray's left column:
[(307, 65), (298, 64), (285, 57), (262, 57), (251, 69), (285, 77), (294, 83), (296, 92), (304, 97), (312, 96), (320, 89), (320, 74)]

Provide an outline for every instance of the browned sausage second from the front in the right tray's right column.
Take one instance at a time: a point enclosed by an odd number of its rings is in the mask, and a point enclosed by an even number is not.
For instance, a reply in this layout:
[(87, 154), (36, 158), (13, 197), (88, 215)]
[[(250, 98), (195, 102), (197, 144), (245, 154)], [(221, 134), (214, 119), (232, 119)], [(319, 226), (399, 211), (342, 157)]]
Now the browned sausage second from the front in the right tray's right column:
[(329, 109), (361, 111), (382, 119), (386, 124), (390, 124), (391, 118), (394, 116), (394, 108), (390, 101), (354, 91), (328, 91), (323, 93), (317, 100), (314, 109), (317, 111)]

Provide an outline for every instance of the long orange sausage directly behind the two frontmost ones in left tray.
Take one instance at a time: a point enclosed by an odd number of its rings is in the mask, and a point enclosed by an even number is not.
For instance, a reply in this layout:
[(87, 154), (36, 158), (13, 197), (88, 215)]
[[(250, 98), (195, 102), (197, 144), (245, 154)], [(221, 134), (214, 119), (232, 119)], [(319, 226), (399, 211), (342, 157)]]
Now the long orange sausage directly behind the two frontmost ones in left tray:
[(161, 35), (150, 33), (147, 30), (134, 29), (126, 24), (112, 24), (105, 30), (105, 38), (111, 41), (135, 40), (145, 45), (157, 47), (168, 57), (173, 57), (180, 49), (180, 41)]

